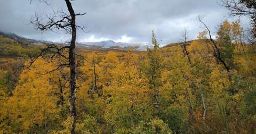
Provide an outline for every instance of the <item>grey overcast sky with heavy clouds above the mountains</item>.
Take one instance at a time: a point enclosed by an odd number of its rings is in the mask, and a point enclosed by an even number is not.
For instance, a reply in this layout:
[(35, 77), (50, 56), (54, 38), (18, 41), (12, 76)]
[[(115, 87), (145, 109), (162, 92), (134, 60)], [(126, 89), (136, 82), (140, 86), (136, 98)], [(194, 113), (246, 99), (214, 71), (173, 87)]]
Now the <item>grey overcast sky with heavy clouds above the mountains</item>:
[[(159, 44), (166, 45), (179, 41), (180, 32), (187, 27), (189, 40), (196, 39), (202, 29), (196, 26), (196, 16), (214, 31), (217, 24), (228, 19), (228, 12), (215, 0), (76, 0), (71, 2), (76, 12), (86, 12), (77, 16), (77, 23), (87, 26), (88, 34), (78, 32), (77, 41), (113, 40), (126, 43), (151, 43), (151, 30), (154, 29)], [(47, 6), (28, 0), (0, 1), (0, 31), (12, 32), (21, 37), (60, 41), (65, 35), (53, 32), (36, 31), (29, 23), (35, 11), (51, 13), (62, 7), (67, 11), (63, 0), (53, 0)], [(243, 23), (246, 21), (242, 20)], [(69, 40), (70, 36), (64, 40)], [(160, 40), (163, 41), (160, 41)]]

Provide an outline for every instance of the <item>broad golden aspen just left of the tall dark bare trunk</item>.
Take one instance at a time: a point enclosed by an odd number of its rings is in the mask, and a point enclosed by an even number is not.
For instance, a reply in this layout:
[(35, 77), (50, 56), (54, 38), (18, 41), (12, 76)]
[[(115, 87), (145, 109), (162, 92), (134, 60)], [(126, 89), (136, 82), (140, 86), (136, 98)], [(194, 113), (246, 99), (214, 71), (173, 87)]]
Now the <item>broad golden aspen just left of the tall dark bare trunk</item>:
[(45, 71), (52, 69), (53, 64), (42, 58), (38, 58), (33, 66), (34, 68), (23, 70), (19, 85), (5, 106), (10, 107), (10, 119), (14, 123), (21, 123), (16, 130), (26, 133), (39, 130), (47, 132), (50, 130), (51, 120), (60, 119), (60, 109), (57, 108), (59, 96), (55, 95), (58, 85), (54, 84), (58, 81), (58, 72), (45, 74)]

